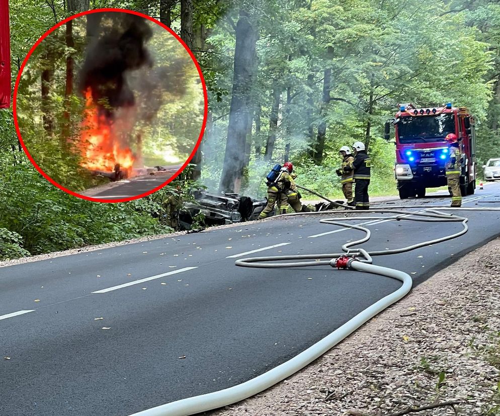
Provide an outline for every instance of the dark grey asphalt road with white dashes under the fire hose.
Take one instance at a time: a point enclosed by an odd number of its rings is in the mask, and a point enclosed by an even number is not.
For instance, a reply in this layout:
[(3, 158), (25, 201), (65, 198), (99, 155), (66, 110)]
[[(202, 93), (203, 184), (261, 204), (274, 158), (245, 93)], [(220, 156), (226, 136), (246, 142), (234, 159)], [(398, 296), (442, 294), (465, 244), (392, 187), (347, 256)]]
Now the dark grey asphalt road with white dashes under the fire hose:
[[(449, 197), (403, 202), (448, 204)], [(500, 207), (500, 183), (464, 206)], [(377, 256), (374, 264), (411, 273), (416, 285), (500, 235), (500, 212), (464, 215), (466, 235)], [(319, 218), (270, 219), (0, 268), (0, 415), (127, 415), (229, 387), (293, 357), (399, 287), (323, 266), (234, 266), (238, 257), (340, 252), (364, 236)], [(368, 227), (367, 250), (462, 229), (396, 221)]]

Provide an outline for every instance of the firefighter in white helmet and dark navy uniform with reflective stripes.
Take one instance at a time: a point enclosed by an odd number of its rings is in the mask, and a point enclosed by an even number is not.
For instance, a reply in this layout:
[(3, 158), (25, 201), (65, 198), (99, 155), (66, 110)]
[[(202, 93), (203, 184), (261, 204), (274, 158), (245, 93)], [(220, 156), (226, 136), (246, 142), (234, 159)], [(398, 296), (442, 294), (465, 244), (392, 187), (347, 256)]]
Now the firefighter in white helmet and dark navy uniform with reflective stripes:
[(353, 151), (354, 160), (344, 168), (344, 172), (353, 172), (356, 210), (369, 210), (370, 156), (366, 153), (365, 145), (362, 142), (354, 143)]

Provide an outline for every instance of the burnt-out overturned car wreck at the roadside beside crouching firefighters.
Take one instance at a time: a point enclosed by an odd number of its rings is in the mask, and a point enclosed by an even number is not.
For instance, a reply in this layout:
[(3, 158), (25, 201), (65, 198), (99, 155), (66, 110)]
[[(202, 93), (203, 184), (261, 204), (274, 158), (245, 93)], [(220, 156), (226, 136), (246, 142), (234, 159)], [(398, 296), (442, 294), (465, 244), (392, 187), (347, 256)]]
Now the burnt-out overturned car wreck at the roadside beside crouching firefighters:
[[(200, 213), (204, 215), (207, 227), (257, 220), (267, 205), (266, 198), (255, 199), (237, 193), (216, 194), (198, 190), (194, 198), (193, 202), (186, 202), (179, 213), (179, 226), (183, 230), (190, 230), (193, 218)], [(273, 215), (275, 211), (269, 217)]]

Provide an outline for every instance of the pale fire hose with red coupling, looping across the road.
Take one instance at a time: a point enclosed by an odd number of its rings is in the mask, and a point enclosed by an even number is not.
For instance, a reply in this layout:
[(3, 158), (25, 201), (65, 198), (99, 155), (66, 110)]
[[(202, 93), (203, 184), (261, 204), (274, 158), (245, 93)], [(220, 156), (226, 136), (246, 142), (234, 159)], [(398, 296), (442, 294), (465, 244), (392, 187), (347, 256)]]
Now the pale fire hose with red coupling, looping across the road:
[[(320, 195), (319, 195), (320, 196)], [(411, 250), (415, 250), (421, 247), (425, 247), (432, 244), (441, 243), (447, 240), (457, 238), (468, 231), (468, 218), (459, 217), (454, 214), (446, 214), (442, 211), (500, 211), (500, 208), (489, 208), (489, 207), (448, 207), (448, 206), (437, 206), (430, 208), (428, 205), (405, 205), (401, 206), (403, 209), (409, 208), (425, 208), (420, 212), (404, 211), (404, 210), (394, 210), (394, 209), (373, 209), (364, 211), (363, 213), (382, 213), (382, 214), (395, 214), (390, 217), (340, 217), (340, 218), (327, 218), (319, 220), (322, 224), (336, 225), (341, 227), (347, 227), (354, 230), (360, 230), (365, 232), (365, 236), (359, 240), (346, 243), (342, 246), (342, 253), (330, 253), (330, 254), (305, 254), (305, 255), (293, 255), (293, 256), (268, 256), (268, 257), (253, 257), (236, 260), (235, 265), (242, 267), (257, 267), (257, 268), (282, 268), (282, 267), (304, 267), (304, 266), (324, 266), (329, 265), (337, 269), (348, 269), (359, 272), (366, 272), (372, 274), (378, 274), (381, 276), (390, 277), (393, 279), (400, 280), (402, 282), (401, 287), (396, 291), (384, 296), (377, 302), (373, 303), (366, 309), (362, 310), (354, 318), (350, 319), (348, 322), (337, 328), (334, 332), (327, 335), (311, 347), (307, 348), (300, 354), (296, 355), (292, 359), (274, 367), (273, 369), (261, 374), (251, 380), (243, 382), (241, 384), (215, 391), (212, 393), (202, 394), (199, 396), (188, 397), (185, 399), (177, 400), (171, 403), (166, 403), (160, 406), (152, 407), (147, 410), (134, 413), (131, 416), (188, 416), (191, 414), (215, 409), (218, 407), (223, 407), (245, 398), (251, 397), (267, 388), (273, 386), (281, 380), (291, 376), (296, 373), (307, 364), (311, 363), (326, 351), (337, 345), (344, 338), (353, 333), (357, 328), (362, 326), (365, 322), (373, 318), (375, 315), (379, 314), (382, 310), (395, 303), (402, 297), (404, 297), (410, 290), (412, 286), (411, 277), (400, 270), (381, 267), (372, 264), (372, 256), (381, 256), (388, 254), (398, 254)], [(439, 209), (439, 211), (438, 211)], [(352, 213), (351, 211), (345, 210), (344, 213)], [(337, 213), (342, 213), (342, 211), (337, 211)], [(310, 212), (310, 213), (293, 213), (285, 214), (284, 216), (295, 216), (295, 215), (324, 215), (324, 212)], [(277, 216), (281, 217), (281, 216)], [(270, 220), (276, 217), (271, 217)], [(371, 232), (368, 228), (359, 225), (350, 225), (342, 221), (352, 221), (352, 220), (395, 220), (395, 221), (419, 221), (419, 222), (460, 222), (462, 224), (462, 230), (441, 238), (416, 243), (407, 247), (397, 248), (393, 250), (383, 250), (383, 251), (371, 251), (368, 252), (362, 248), (351, 248), (353, 246), (367, 242), (370, 239)], [(324, 260), (322, 260), (324, 259)], [(291, 260), (300, 260), (295, 262), (290, 262)], [(306, 261), (313, 260), (313, 261)], [(271, 263), (269, 263), (271, 262)]]

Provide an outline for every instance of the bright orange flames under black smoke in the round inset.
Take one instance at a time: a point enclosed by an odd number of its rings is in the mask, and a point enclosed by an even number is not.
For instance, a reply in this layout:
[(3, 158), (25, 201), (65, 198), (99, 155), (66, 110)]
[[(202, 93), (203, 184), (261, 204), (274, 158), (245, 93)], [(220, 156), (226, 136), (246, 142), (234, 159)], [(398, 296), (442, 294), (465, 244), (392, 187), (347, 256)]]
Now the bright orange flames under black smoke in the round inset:
[(85, 91), (85, 116), (81, 123), (80, 151), (81, 166), (90, 170), (112, 172), (119, 163), (130, 176), (135, 157), (128, 146), (120, 144), (113, 131), (113, 123), (104, 114), (99, 114), (92, 99), (92, 90)]

